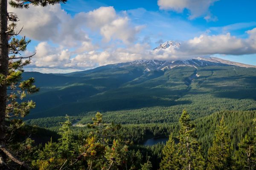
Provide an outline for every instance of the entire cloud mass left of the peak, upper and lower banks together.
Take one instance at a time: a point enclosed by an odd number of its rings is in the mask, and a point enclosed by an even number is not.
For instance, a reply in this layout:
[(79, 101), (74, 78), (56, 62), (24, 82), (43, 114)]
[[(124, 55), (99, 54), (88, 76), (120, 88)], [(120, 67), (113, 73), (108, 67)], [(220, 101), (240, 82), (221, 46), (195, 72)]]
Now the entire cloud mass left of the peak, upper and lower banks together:
[[(8, 6), (8, 10), (19, 17), (17, 29), (24, 26), (21, 35), (41, 41), (35, 46), (36, 55), (29, 65), (30, 69), (86, 69), (136, 59), (131, 58), (127, 52), (120, 52), (116, 47), (113, 49), (114, 44), (110, 48), (110, 44), (106, 45), (108, 43), (93, 43), (87, 34), (91, 31), (101, 35), (104, 42), (121, 40), (121, 43), (118, 42), (121, 45), (132, 45), (131, 42), (136, 40), (136, 35), (143, 26), (133, 26), (125, 12), (122, 16), (116, 14), (112, 6), (80, 12), (74, 16), (67, 14), (60, 5), (48, 8), (31, 6), (29, 10)], [(28, 51), (26, 54), (32, 52)], [(122, 59), (122, 54), (126, 55), (126, 59)]]

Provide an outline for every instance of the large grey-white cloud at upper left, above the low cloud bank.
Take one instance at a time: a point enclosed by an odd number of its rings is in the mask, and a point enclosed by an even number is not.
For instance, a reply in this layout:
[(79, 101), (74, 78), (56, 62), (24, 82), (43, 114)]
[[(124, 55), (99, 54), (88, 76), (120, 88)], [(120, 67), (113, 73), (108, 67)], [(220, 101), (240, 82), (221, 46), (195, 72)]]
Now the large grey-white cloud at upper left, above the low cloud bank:
[(87, 13), (80, 12), (74, 17), (61, 9), (59, 4), (48, 8), (31, 6), (29, 10), (8, 6), (8, 10), (18, 15), (20, 21), (17, 29), (23, 26), (21, 35), (39, 41), (52, 40), (67, 47), (91, 43), (88, 29), (99, 32), (105, 41), (122, 40), (131, 43), (142, 28), (131, 26), (129, 18), (116, 14), (112, 6), (100, 7)]

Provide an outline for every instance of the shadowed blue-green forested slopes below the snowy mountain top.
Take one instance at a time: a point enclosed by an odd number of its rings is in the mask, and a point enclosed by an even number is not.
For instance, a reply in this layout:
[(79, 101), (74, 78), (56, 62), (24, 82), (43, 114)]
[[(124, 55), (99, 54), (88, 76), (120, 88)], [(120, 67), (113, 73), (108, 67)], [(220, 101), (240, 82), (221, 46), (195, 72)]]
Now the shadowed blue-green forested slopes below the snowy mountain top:
[[(187, 66), (144, 72), (140, 67), (121, 67), (72, 75), (76, 74), (25, 72), (24, 78), (35, 77), (40, 87), (40, 92), (29, 96), (37, 107), (27, 119), (101, 111), (117, 115), (117, 120), (121, 116), (120, 123), (134, 123), (133, 114), (141, 115), (138, 123), (153, 123), (172, 122), (170, 116), (183, 108), (195, 117), (256, 108), (256, 68)], [(151, 119), (146, 121), (145, 114)], [(152, 119), (153, 114), (157, 119)]]

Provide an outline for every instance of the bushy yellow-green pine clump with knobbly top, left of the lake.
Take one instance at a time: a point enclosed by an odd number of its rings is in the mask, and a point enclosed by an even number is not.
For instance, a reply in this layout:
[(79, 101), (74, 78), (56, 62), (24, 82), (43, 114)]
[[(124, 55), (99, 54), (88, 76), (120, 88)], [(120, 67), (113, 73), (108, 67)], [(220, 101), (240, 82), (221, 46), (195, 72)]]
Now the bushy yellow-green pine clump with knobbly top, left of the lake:
[[(83, 159), (87, 161), (88, 169), (126, 169), (130, 165), (128, 161), (131, 161), (129, 159), (131, 154), (129, 154), (127, 142), (116, 138), (116, 130), (119, 130), (121, 126), (113, 123), (105, 124), (102, 114), (97, 112), (93, 118), (93, 124), (88, 124), (88, 127), (92, 128), (92, 131), (85, 145), (80, 149), (83, 152)], [(134, 168), (137, 168), (136, 166)]]

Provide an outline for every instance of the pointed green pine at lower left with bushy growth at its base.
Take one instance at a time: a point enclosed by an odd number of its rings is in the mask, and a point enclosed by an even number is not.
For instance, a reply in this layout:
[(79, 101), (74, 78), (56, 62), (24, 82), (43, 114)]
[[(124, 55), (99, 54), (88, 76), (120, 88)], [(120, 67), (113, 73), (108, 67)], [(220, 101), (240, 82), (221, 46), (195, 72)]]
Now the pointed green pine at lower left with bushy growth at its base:
[(52, 142), (52, 139), (42, 150), (38, 151), (38, 159), (32, 161), (32, 166), (39, 170), (54, 170), (79, 167), (79, 146), (72, 135), (72, 126), (69, 116), (66, 121), (61, 123), (59, 129), (58, 143)]

